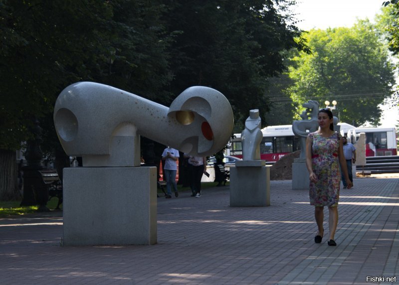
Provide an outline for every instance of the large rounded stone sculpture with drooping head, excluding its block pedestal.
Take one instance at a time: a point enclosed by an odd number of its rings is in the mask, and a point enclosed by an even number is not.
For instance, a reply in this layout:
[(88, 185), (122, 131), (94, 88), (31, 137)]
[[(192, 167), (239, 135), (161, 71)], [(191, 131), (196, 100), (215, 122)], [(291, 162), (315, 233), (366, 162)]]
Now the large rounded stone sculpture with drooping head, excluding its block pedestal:
[(140, 137), (195, 156), (228, 142), (233, 113), (227, 99), (207, 87), (191, 87), (165, 107), (111, 86), (79, 82), (65, 88), (54, 108), (58, 138), (83, 166), (140, 166)]

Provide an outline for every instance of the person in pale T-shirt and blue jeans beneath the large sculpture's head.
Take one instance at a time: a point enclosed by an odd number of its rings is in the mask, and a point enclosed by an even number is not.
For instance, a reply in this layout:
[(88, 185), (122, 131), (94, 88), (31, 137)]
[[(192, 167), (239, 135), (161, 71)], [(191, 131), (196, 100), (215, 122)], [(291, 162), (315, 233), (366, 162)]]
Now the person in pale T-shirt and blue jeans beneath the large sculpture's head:
[(172, 198), (172, 187), (175, 190), (175, 196), (179, 197), (178, 186), (176, 185), (177, 161), (179, 159), (179, 150), (167, 147), (162, 152), (162, 160), (165, 160), (164, 176), (166, 180), (166, 196)]

